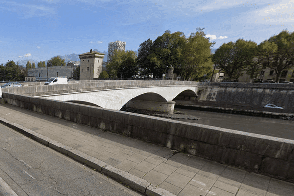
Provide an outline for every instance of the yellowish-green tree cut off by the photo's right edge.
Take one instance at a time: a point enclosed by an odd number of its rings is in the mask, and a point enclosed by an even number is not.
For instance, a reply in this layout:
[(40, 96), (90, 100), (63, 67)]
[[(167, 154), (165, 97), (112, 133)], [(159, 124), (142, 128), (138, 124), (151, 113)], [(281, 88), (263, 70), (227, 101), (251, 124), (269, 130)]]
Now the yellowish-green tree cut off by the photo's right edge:
[(282, 72), (294, 66), (294, 32), (284, 30), (260, 45), (264, 49), (263, 65), (275, 71), (279, 82)]

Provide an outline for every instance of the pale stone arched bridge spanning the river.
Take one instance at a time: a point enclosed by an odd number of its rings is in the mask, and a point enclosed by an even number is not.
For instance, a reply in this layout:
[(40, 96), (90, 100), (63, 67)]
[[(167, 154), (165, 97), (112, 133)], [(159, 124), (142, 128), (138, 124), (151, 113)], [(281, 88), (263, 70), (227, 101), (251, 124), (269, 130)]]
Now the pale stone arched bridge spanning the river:
[[(6, 89), (5, 89), (6, 90)], [(189, 81), (74, 81), (60, 85), (11, 88), (5, 92), (25, 94), (120, 110), (124, 105), (136, 109), (173, 112), (179, 97), (196, 98), (198, 82)]]

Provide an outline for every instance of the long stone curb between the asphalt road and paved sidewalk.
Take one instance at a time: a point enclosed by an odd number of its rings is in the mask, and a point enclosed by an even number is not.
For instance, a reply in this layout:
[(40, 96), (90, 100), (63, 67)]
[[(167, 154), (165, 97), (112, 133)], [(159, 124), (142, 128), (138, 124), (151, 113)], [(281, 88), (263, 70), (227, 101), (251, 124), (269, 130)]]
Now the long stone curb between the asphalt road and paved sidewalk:
[[(81, 162), (98, 172), (104, 173), (106, 176), (109, 176), (118, 182), (121, 182), (125, 186), (129, 186), (130, 188), (146, 195), (146, 196), (176, 196), (175, 194), (162, 189), (160, 187), (156, 187), (146, 180), (139, 178), (135, 175), (132, 175), (128, 172), (125, 172), (121, 169), (115, 168), (111, 165), (106, 164), (103, 161), (98, 160), (95, 157), (89, 156), (79, 150), (76, 150), (72, 147), (66, 146), (60, 142), (50, 139), (49, 137), (43, 136), (39, 133), (36, 133), (28, 128), (23, 127), (22, 125), (12, 123), (6, 119), (0, 117), (0, 123), (30, 137), (34, 140), (66, 155), (71, 157), (72, 159)], [(1, 180), (1, 178), (0, 178)], [(1, 193), (1, 192), (0, 192)], [(12, 195), (14, 196), (14, 195)], [(17, 195), (16, 195), (17, 196)]]

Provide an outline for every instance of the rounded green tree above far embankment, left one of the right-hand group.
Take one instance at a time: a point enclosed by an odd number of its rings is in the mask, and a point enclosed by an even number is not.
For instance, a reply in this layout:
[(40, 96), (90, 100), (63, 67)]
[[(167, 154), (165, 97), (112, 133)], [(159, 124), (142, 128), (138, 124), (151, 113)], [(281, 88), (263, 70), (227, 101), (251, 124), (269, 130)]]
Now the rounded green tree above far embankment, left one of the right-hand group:
[(228, 76), (228, 80), (237, 80), (243, 75), (249, 62), (254, 58), (256, 43), (238, 39), (236, 42), (224, 43), (213, 55), (214, 64)]

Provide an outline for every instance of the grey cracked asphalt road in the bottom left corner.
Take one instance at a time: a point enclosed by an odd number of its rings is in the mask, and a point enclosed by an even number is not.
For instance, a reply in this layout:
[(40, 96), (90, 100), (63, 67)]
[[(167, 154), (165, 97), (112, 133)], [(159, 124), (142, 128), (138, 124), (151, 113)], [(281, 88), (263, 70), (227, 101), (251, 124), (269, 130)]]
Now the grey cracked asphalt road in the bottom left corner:
[(2, 124), (0, 177), (19, 196), (142, 196)]

